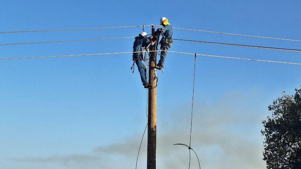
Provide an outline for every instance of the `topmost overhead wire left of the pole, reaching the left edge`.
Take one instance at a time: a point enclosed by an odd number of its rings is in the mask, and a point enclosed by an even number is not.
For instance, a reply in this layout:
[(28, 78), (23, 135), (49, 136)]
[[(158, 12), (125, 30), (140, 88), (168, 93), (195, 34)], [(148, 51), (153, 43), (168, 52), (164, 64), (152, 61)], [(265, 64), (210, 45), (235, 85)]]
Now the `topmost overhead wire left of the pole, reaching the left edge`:
[[(151, 26), (151, 25), (144, 25)], [(21, 32), (50, 32), (50, 31), (71, 31), (71, 30), (90, 30), (90, 29), (111, 29), (111, 28), (133, 28), (142, 26), (114, 26), (114, 27), (98, 27), (98, 28), (73, 28), (73, 29), (48, 29), (48, 30), (26, 30), (26, 31), (7, 31), (0, 33), (21, 33)]]

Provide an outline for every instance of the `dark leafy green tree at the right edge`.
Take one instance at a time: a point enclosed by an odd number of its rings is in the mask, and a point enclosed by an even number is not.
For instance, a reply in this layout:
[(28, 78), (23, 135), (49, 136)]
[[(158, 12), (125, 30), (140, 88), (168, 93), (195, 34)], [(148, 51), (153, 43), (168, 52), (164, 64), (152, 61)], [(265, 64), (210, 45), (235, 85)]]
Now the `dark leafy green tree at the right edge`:
[(295, 91), (274, 100), (268, 106), (272, 117), (262, 121), (263, 160), (268, 169), (301, 169), (301, 89)]

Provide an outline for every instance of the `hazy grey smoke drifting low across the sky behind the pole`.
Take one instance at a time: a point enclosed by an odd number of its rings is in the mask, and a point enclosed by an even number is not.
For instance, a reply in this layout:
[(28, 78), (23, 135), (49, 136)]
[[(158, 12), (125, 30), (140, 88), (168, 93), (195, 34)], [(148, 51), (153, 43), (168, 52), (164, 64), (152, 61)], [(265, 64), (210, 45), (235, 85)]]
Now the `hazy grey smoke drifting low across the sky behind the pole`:
[[(251, 97), (250, 97), (251, 96)], [(192, 148), (197, 152), (201, 168), (254, 169), (265, 168), (262, 160), (261, 120), (266, 117), (265, 105), (255, 100), (255, 95), (228, 93), (215, 103), (196, 101), (192, 128)], [(261, 105), (254, 108), (253, 105)], [(265, 106), (265, 107), (264, 107)], [(263, 108), (262, 108), (263, 107)], [(189, 144), (190, 105), (169, 110), (172, 116), (165, 123), (157, 124), (157, 167), (187, 168), (189, 150), (175, 143)], [(144, 126), (141, 126), (141, 129)], [(14, 163), (28, 165), (58, 164), (61, 168), (134, 168), (142, 133), (122, 138), (109, 146), (99, 146), (88, 155), (53, 157), (25, 157)], [(146, 168), (145, 136), (139, 156), (138, 167)], [(40, 165), (43, 166), (43, 165)], [(191, 168), (198, 168), (193, 152)]]

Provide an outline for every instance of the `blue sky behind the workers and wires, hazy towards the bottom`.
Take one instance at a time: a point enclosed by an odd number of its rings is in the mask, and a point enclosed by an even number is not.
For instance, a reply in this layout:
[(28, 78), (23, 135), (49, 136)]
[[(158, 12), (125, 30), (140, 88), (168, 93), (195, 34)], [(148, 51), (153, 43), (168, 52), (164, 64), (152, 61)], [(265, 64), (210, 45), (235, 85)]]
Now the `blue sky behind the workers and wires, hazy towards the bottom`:
[[(159, 25), (301, 40), (301, 2), (1, 1), (0, 32)], [(141, 28), (0, 34), (0, 44), (136, 36)], [(146, 27), (147, 33), (151, 27)], [(190, 32), (174, 38), (300, 49), (301, 42)], [(134, 39), (0, 46), (0, 58), (132, 51)], [(301, 63), (301, 53), (174, 41), (198, 54)], [(0, 168), (134, 168), (147, 123), (131, 54), (0, 61)], [(169, 53), (158, 71), (157, 167), (188, 167), (194, 56)], [(202, 169), (264, 168), (261, 121), (301, 66), (197, 58), (192, 148)], [(146, 138), (138, 168), (146, 168)], [(192, 158), (192, 168), (197, 168)]]

